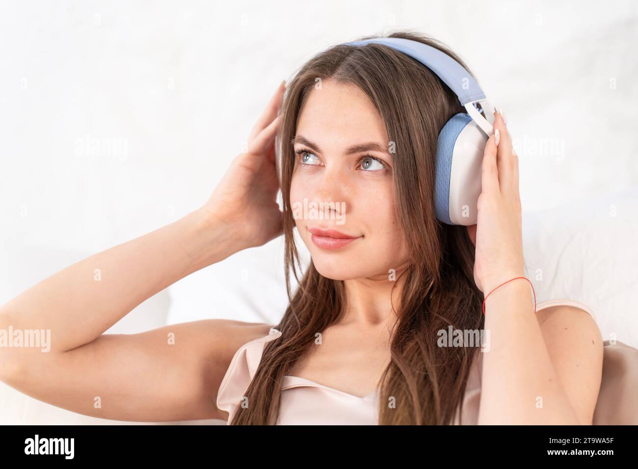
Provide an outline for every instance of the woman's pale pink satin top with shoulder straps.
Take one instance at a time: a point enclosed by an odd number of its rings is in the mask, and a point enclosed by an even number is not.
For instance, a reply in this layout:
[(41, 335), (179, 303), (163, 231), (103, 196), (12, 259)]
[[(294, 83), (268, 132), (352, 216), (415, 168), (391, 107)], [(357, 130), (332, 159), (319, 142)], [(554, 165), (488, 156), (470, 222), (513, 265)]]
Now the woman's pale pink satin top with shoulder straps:
[[(588, 306), (568, 299), (540, 302), (537, 304), (537, 312), (559, 304), (584, 309), (595, 318), (593, 311)], [(218, 408), (229, 413), (228, 422), (234, 416), (237, 405), (245, 396), (248, 385), (255, 376), (265, 344), (280, 336), (281, 331), (272, 327), (267, 336), (249, 341), (235, 352), (219, 387), (216, 401)], [(628, 350), (632, 352), (627, 352), (630, 355), (625, 355), (625, 359), (636, 361), (638, 350), (630, 347)], [(476, 356), (477, 360), (470, 370), (463, 398), (462, 424), (464, 425), (475, 425), (479, 420), (483, 361), (480, 352)], [(638, 372), (635, 375), (638, 375)], [(278, 425), (378, 424), (378, 390), (362, 398), (306, 378), (285, 376), (282, 391), (279, 417), (276, 422)], [(457, 412), (454, 424), (459, 424), (459, 412)]]

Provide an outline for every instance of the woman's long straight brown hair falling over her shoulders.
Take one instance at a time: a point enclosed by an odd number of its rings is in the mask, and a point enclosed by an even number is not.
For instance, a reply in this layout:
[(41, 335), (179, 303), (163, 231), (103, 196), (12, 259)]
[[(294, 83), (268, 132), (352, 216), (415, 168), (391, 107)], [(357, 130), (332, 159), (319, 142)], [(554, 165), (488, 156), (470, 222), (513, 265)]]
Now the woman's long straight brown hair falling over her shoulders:
[[(387, 37), (426, 43), (464, 66), (449, 48), (428, 36), (402, 31)], [(467, 230), (440, 223), (434, 214), (438, 133), (452, 115), (465, 111), (431, 70), (380, 44), (330, 47), (288, 82), (278, 144), (290, 304), (276, 326), (281, 337), (265, 344), (246, 391), (250, 405), (238, 406), (230, 424), (275, 424), (283, 376), (313, 347), (316, 332), (334, 324), (345, 311), (343, 281), (323, 277), (312, 262), (299, 279), (301, 262), (293, 240), (290, 182), (295, 159), (290, 141), (316, 78), (358, 86), (375, 104), (390, 141), (396, 142), (392, 155), (396, 216), (409, 241), (410, 265), (401, 274), (405, 278), (390, 336), (390, 364), (379, 383), (379, 424), (450, 424), (457, 410), (461, 412), (471, 364), (479, 355), (477, 347), (437, 346), (437, 332), (450, 325), (480, 330), (484, 321), (482, 294), (473, 280), (474, 246)], [(291, 271), (298, 283), (294, 294)]]

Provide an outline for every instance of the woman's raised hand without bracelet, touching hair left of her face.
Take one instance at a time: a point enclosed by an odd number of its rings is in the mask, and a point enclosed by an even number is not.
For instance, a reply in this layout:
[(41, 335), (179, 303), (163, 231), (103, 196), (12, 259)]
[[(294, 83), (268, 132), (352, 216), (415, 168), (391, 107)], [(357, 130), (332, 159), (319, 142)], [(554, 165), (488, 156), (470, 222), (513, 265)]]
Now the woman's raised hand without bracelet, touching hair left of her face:
[(283, 233), (275, 168), (278, 111), (285, 91), (279, 85), (248, 138), (202, 210), (237, 237), (239, 249), (261, 246)]

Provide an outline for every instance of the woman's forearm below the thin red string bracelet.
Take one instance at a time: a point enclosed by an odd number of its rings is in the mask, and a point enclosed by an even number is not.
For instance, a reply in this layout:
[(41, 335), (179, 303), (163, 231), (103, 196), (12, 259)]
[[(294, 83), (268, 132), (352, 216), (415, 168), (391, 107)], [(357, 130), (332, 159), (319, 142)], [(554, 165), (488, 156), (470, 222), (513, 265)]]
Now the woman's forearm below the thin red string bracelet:
[(580, 424), (545, 347), (530, 284), (503, 285), (485, 309), (479, 424)]

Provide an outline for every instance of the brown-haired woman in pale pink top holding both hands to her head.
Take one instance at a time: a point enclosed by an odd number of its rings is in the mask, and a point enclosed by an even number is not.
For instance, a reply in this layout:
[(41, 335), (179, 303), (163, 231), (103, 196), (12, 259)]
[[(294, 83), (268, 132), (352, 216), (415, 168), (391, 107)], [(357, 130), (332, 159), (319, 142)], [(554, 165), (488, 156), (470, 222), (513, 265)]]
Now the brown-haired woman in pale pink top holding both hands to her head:
[[(390, 37), (463, 64), (431, 38)], [(452, 91), (396, 50), (338, 45), (319, 54), (286, 93), (279, 87), (248, 151), (200, 209), (0, 309), (0, 327), (52, 338), (47, 354), (0, 349), (0, 376), (53, 405), (126, 421), (591, 424), (600, 331), (574, 302), (545, 302), (535, 313), (530, 284), (517, 279), (518, 165), (500, 113), (477, 225), (434, 216), (436, 138), (458, 112)], [(333, 203), (332, 217), (295, 216), (304, 199)], [(203, 320), (103, 334), (175, 281), (282, 233), (297, 276), (293, 228), (312, 262), (294, 293), (286, 270), (290, 305), (279, 324)], [(449, 327), (489, 332), (489, 351), (441, 346)]]

